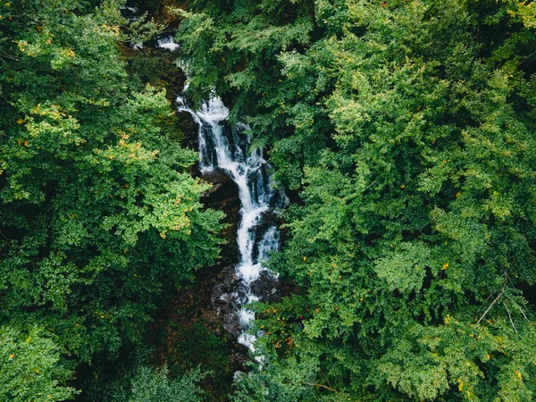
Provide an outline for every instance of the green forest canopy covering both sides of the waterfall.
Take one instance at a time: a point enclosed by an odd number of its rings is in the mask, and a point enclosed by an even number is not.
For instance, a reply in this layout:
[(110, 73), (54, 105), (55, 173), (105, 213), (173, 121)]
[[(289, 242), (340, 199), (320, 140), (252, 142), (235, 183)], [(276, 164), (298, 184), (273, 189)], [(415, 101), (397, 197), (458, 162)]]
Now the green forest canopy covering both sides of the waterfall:
[[(3, 400), (222, 400), (210, 373), (147, 363), (222, 213), (165, 91), (129, 68), (164, 27), (125, 4), (0, 4)], [(188, 98), (222, 96), (290, 199), (268, 266), (294, 291), (252, 307), (264, 364), (224, 399), (535, 398), (532, 1), (145, 4), (163, 6)], [(110, 363), (121, 381), (99, 380)]]

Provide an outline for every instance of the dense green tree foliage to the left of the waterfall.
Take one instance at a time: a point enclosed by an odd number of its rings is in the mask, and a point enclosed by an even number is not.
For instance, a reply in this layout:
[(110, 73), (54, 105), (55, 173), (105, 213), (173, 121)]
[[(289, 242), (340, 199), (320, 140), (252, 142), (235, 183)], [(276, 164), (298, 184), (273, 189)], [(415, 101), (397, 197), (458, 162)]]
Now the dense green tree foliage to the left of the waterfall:
[(73, 368), (138, 348), (156, 308), (218, 255), (197, 155), (119, 54), (155, 26), (123, 35), (120, 5), (0, 4), (0, 322), (42, 329), (44, 391), (68, 378), (60, 352)]

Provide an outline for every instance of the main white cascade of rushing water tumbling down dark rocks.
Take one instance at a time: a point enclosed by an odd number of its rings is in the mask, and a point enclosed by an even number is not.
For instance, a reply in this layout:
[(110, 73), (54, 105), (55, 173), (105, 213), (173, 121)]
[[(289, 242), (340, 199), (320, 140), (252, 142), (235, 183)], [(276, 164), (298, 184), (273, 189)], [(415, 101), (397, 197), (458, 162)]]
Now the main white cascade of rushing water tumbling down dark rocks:
[[(197, 122), (200, 171), (208, 173), (221, 170), (230, 176), (239, 189), (239, 264), (235, 270), (240, 286), (232, 297), (236, 306), (246, 306), (264, 297), (258, 294), (262, 290), (254, 286), (255, 281), (261, 275), (274, 278), (262, 262), (280, 246), (280, 232), (275, 224), (270, 223), (270, 215), (277, 205), (281, 205), (281, 194), (270, 187), (262, 150), (249, 152), (248, 138), (242, 133), (247, 127), (240, 124), (230, 127), (225, 123), (229, 110), (219, 97), (213, 96), (198, 111), (189, 108), (183, 97), (177, 98), (177, 105), (180, 111), (190, 113)], [(255, 351), (255, 335), (245, 333), (255, 314), (247, 308), (239, 308), (236, 314), (242, 327), (239, 343)]]

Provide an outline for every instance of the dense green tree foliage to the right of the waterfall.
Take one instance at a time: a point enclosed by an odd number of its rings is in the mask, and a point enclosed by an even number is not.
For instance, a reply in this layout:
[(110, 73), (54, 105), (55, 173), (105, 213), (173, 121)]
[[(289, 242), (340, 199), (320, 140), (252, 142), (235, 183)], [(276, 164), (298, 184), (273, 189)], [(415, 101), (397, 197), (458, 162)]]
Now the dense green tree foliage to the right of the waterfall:
[(193, 89), (237, 91), (304, 204), (237, 400), (531, 400), (532, 4), (214, 4), (179, 37)]

